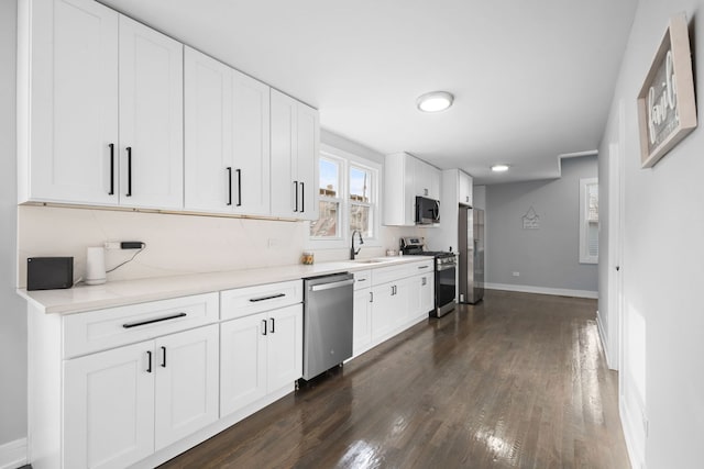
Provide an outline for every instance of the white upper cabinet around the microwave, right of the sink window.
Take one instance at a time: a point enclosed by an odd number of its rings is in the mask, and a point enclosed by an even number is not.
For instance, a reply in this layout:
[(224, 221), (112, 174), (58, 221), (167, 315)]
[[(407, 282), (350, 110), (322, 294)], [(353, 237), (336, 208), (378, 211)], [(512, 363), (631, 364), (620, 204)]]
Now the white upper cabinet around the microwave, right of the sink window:
[(384, 224), (416, 224), (416, 197), (440, 200), (439, 169), (408, 155), (396, 153), (384, 159)]

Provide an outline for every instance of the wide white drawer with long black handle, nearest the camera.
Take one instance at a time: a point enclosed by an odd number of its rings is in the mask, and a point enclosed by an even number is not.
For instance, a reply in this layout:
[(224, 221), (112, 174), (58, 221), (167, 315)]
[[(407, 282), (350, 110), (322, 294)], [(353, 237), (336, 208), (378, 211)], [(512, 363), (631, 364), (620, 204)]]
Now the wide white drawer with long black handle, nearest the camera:
[(63, 319), (64, 358), (217, 321), (217, 292), (72, 314)]

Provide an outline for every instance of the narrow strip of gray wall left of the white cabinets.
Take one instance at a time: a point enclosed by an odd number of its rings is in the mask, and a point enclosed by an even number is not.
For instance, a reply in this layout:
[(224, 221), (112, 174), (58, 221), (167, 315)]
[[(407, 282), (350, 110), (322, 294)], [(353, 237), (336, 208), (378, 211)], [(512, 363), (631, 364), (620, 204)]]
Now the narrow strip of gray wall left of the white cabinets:
[(0, 1), (0, 446), (26, 436), (26, 316), (16, 258), (16, 3)]

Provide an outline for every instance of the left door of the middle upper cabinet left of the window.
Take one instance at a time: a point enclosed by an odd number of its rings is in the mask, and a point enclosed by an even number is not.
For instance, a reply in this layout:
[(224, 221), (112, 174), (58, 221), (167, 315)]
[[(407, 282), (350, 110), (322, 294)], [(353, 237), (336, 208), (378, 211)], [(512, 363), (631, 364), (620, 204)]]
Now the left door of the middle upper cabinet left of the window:
[(232, 69), (185, 47), (185, 208), (232, 212)]

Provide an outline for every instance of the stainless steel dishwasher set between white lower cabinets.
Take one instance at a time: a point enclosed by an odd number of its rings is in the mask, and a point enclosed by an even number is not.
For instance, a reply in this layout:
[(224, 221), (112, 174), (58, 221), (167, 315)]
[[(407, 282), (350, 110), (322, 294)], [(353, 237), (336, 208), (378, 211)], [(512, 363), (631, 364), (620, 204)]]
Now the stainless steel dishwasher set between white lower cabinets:
[(304, 279), (304, 379), (352, 357), (354, 276)]

